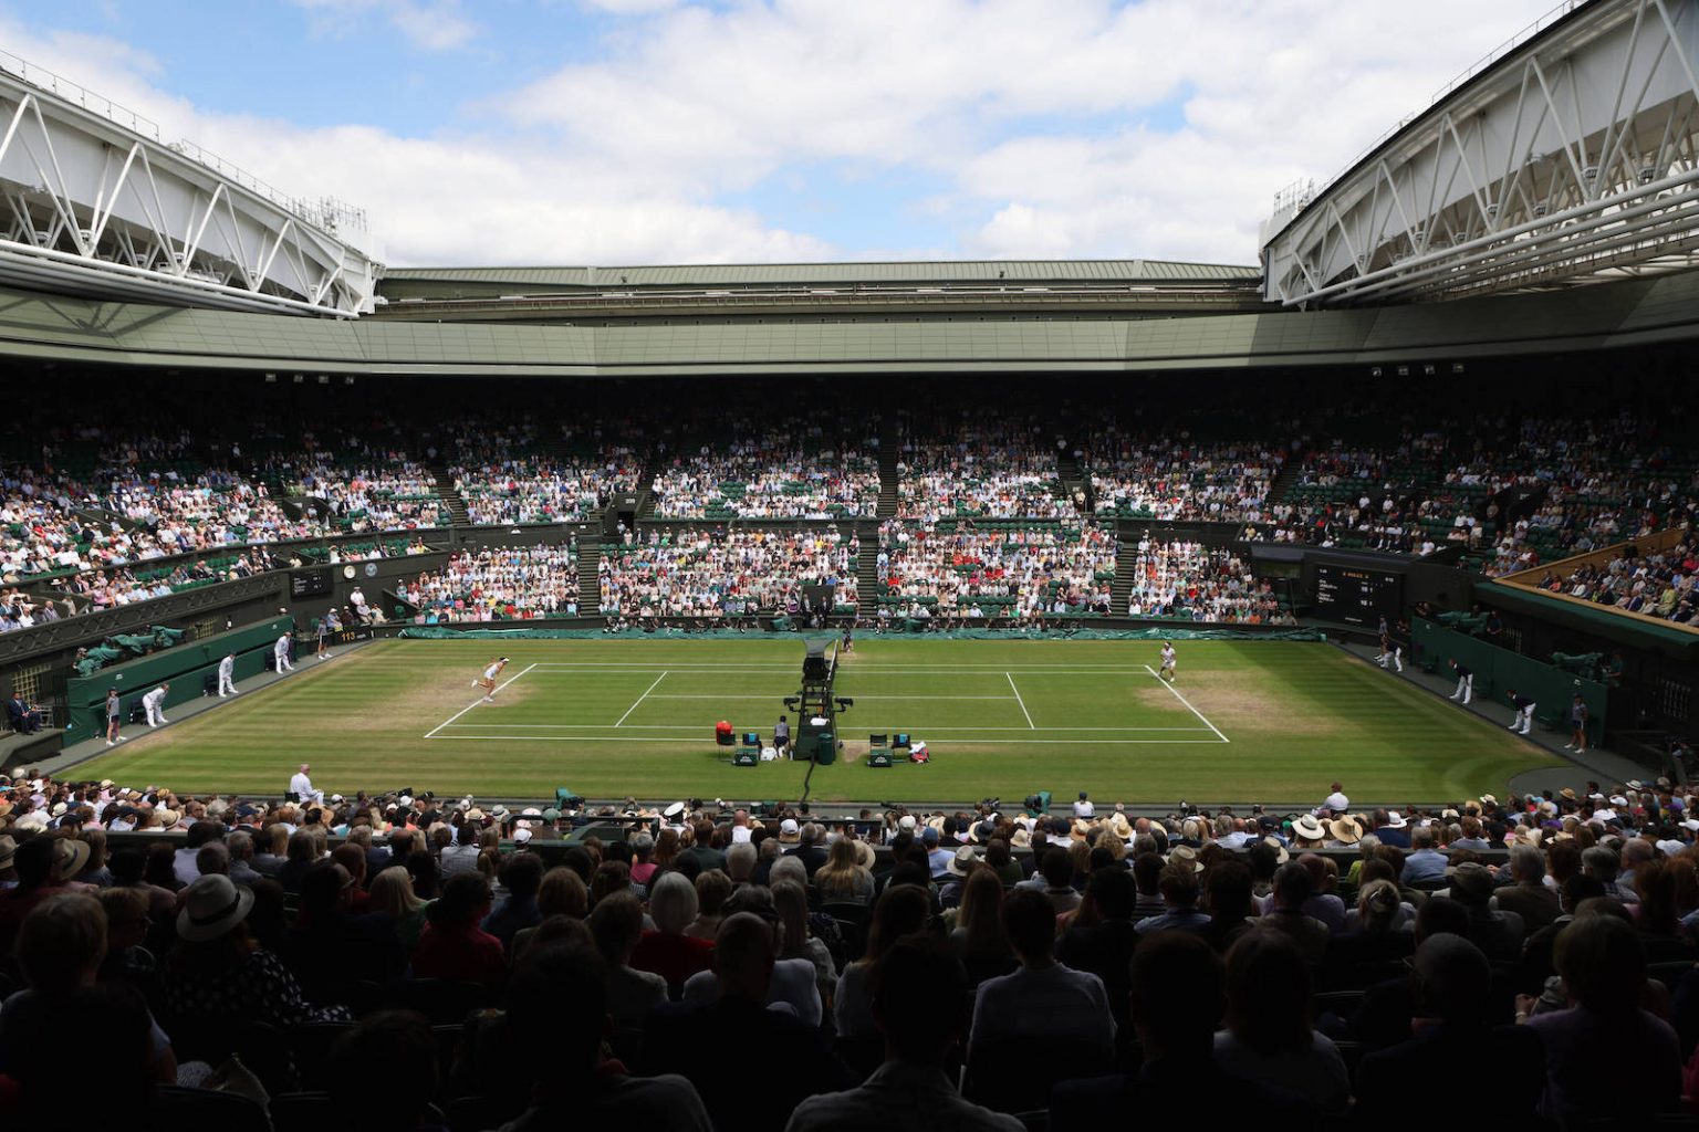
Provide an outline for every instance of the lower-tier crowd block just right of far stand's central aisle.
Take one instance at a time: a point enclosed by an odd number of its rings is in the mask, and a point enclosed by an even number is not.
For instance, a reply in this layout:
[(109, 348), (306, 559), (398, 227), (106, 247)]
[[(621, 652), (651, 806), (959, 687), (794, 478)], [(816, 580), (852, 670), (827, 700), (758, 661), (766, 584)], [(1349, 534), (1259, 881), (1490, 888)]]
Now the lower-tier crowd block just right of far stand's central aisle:
[(1019, 618), (1109, 613), (1115, 533), (1086, 524), (880, 526), (882, 613)]

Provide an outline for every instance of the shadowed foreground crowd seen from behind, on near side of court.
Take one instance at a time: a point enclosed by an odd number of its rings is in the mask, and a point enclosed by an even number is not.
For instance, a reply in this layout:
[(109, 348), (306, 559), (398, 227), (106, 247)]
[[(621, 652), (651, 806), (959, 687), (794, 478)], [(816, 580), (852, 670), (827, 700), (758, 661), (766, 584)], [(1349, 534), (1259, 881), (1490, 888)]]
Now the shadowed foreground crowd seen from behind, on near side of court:
[(90, 1040), (114, 1095), (224, 1088), (251, 1127), (333, 1122), (374, 1073), (391, 1122), (511, 1132), (1312, 1132), (1414, 1090), (1580, 1132), (1699, 1101), (1699, 794), (1668, 781), (822, 816), (309, 772), (285, 801), (0, 779), (0, 1120), (63, 1113)]

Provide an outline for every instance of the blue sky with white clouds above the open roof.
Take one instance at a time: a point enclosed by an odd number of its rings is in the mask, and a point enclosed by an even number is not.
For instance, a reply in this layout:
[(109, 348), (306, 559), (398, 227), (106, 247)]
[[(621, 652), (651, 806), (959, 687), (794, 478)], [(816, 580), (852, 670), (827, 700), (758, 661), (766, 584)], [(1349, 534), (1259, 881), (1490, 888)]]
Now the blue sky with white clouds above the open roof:
[(1252, 263), (1276, 190), (1549, 3), (0, 0), (0, 48), (398, 265)]

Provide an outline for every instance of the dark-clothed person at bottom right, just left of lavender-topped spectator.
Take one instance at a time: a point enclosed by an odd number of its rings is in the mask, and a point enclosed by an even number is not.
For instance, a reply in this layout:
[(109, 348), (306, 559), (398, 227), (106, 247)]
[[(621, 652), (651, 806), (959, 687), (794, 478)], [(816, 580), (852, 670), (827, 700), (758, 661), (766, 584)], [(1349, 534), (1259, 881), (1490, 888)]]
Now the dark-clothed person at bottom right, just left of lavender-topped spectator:
[[(1488, 1025), (1492, 967), (1461, 935), (1436, 935), (1415, 952), (1414, 1034), (1363, 1057), (1358, 1105), (1364, 1113), (1397, 1113), (1410, 1103), (1412, 1083), (1444, 1083), (1446, 1103), (1459, 1112), (1490, 1107), (1532, 1118), (1546, 1086), (1546, 1054), (1527, 1027)], [(1459, 1073), (1461, 1066), (1492, 1073)]]

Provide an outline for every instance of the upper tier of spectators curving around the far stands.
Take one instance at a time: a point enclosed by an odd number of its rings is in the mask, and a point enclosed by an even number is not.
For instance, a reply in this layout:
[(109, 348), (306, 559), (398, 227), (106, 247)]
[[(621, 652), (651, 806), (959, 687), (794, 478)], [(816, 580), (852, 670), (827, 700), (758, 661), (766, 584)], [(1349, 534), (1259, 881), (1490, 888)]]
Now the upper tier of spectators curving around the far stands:
[[(1465, 417), (1400, 392), (1322, 407), (1273, 394), (1267, 406), (1155, 397), (1138, 411), (1121, 394), (1098, 390), (1103, 404), (1057, 394), (1040, 404), (1019, 390), (928, 390), (890, 399), (900, 407), (889, 416), (799, 412), (775, 407), (771, 390), (683, 387), (663, 397), (576, 390), (452, 414), (386, 395), (323, 412), (236, 395), (209, 419), (204, 390), (187, 387), (134, 414), (68, 407), (63, 419), (75, 424), (0, 436), (0, 584), (22, 591), (0, 631), (228, 577), (245, 546), (430, 531), (462, 502), (476, 526), (595, 521), (615, 494), (646, 490), (641, 519), (848, 523), (878, 514), (883, 490), (880, 518), (919, 526), (1215, 519), (1250, 541), (1441, 557), (1492, 577), (1691, 526), (1699, 506), (1699, 455), (1677, 440), (1679, 404), (1648, 414), (1548, 397)], [(882, 441), (892, 448), (883, 477)], [(144, 565), (185, 553), (212, 562)], [(1589, 575), (1565, 589), (1684, 619), (1687, 575), (1667, 572), (1651, 596)], [(1001, 579), (970, 579), (979, 592), (965, 596), (982, 597), (985, 616), (1091, 611), (1103, 606), (1092, 586), (1103, 580), (1047, 579), (1041, 599), (1008, 602)], [(894, 596), (880, 599), (895, 611)], [(951, 594), (907, 596), (957, 608)], [(917, 604), (931, 608), (924, 616), (940, 602)], [(902, 606), (912, 613), (916, 601)]]

